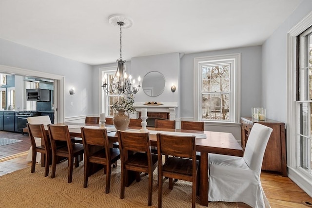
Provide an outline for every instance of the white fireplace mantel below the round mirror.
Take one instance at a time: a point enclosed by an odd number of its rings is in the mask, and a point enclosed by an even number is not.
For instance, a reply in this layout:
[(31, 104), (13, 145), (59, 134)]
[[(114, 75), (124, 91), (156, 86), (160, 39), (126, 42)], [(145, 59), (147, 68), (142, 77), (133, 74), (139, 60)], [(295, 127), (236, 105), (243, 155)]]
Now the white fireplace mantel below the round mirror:
[[(140, 112), (142, 108), (146, 108), (148, 112), (169, 112), (169, 120), (176, 120), (177, 102), (162, 102), (162, 105), (144, 105), (142, 102), (135, 102), (133, 106)], [(134, 113), (138, 118), (138, 113)]]

